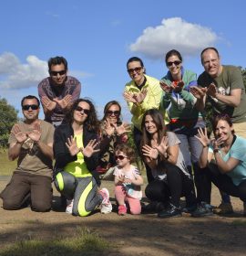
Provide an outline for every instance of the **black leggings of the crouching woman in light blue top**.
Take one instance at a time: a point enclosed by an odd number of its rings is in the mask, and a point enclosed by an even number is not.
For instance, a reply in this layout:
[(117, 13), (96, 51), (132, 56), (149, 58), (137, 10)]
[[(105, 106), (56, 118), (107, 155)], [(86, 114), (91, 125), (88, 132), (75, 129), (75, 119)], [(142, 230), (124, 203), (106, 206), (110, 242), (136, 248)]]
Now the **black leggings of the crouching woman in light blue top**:
[(220, 174), (217, 165), (210, 164), (209, 167), (203, 169), (206, 174), (206, 183), (202, 187), (202, 201), (210, 203), (211, 182), (221, 191), (232, 197), (239, 197), (243, 202), (246, 202), (246, 180), (242, 180), (240, 185), (236, 186), (230, 176)]

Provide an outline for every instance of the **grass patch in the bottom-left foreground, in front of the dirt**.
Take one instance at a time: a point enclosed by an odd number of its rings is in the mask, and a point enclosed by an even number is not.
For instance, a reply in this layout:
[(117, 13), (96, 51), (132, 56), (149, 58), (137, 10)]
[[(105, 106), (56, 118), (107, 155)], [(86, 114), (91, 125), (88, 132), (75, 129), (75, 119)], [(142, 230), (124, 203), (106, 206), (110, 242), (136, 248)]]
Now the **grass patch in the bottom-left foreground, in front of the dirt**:
[(107, 255), (110, 243), (89, 229), (77, 229), (72, 237), (56, 237), (52, 240), (17, 240), (15, 245), (0, 249), (2, 256), (78, 256)]

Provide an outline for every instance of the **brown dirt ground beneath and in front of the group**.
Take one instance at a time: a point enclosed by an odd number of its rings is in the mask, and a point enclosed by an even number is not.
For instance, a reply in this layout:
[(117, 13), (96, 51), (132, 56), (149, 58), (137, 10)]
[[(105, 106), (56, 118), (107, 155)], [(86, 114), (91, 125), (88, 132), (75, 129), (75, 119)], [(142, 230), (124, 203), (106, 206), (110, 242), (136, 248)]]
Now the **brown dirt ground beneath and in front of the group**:
[[(0, 190), (7, 180), (0, 180)], [(103, 182), (112, 193), (112, 183)], [(55, 192), (55, 195), (56, 192)], [(212, 204), (220, 197), (213, 189)], [(56, 197), (55, 197), (56, 199)], [(114, 200), (112, 198), (113, 203)], [(32, 212), (30, 208), (5, 211), (0, 203), (0, 246), (16, 240), (69, 236), (77, 227), (96, 231), (115, 244), (108, 255), (246, 255), (246, 218), (242, 203), (232, 198), (235, 214), (194, 219), (189, 216), (159, 219), (155, 214), (118, 217), (116, 212), (87, 218), (64, 212)], [(1, 254), (0, 254), (1, 255)]]

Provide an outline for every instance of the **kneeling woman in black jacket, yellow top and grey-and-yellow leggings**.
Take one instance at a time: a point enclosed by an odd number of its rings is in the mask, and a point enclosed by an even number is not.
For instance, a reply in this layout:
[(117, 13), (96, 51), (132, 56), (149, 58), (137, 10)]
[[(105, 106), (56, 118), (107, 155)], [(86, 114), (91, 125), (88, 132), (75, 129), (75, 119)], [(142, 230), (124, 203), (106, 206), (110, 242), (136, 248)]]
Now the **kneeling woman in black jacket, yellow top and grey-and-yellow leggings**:
[(78, 99), (55, 131), (55, 186), (67, 198), (67, 213), (87, 216), (98, 205), (112, 210), (107, 188), (98, 191), (98, 121), (91, 101)]

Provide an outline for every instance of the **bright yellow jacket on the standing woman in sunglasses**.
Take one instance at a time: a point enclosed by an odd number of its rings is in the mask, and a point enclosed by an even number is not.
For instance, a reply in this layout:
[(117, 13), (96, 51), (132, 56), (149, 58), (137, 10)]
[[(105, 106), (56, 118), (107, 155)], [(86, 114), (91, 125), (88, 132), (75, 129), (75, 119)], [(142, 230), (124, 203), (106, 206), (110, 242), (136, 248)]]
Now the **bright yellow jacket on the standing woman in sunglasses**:
[[(132, 102), (128, 102), (128, 109), (132, 114), (131, 122), (139, 131), (141, 131), (143, 114), (150, 109), (159, 109), (159, 102), (162, 96), (162, 89), (159, 86), (159, 80), (147, 75), (145, 75), (145, 77), (147, 81), (141, 90), (138, 89), (134, 80), (129, 81), (125, 86), (126, 92), (138, 93), (144, 89), (147, 89), (148, 91), (144, 101), (140, 104), (136, 105)], [(162, 111), (162, 113), (163, 116), (165, 116), (165, 112)]]

